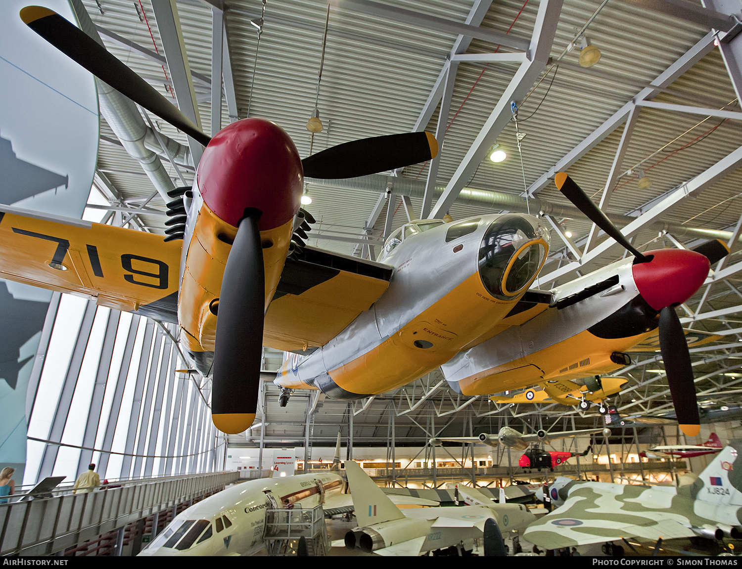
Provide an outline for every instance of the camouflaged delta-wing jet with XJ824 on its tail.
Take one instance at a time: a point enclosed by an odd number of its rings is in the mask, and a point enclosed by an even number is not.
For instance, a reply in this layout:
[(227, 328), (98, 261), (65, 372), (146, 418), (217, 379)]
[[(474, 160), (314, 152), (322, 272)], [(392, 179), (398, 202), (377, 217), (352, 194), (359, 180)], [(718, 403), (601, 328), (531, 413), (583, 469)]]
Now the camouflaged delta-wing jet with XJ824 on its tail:
[[(742, 439), (731, 441), (689, 484), (633, 486), (557, 478), (549, 488), (552, 513), (523, 538), (559, 549), (636, 537), (742, 537)], [(683, 477), (688, 481), (687, 477)]]

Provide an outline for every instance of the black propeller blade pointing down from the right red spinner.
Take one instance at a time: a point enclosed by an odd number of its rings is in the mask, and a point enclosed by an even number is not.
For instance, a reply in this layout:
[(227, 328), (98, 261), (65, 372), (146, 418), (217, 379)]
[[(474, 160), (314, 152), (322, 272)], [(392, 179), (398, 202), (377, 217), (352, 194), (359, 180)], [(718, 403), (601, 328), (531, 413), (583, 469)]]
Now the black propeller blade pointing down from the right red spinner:
[(677, 318), (672, 306), (666, 306), (660, 312), (660, 352), (665, 362), (677, 422), (686, 435), (695, 436), (700, 430), (700, 417), (691, 356), (680, 318)]

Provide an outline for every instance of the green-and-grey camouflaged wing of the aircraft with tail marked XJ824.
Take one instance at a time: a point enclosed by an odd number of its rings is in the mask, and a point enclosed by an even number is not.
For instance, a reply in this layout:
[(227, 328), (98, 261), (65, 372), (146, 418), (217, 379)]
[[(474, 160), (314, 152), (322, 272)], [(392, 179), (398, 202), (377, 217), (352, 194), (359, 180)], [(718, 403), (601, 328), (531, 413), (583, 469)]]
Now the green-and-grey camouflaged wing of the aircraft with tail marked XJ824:
[[(629, 496), (647, 490), (633, 490)], [(523, 539), (546, 549), (611, 542), (622, 537), (657, 541), (692, 537), (689, 526), (678, 522), (682, 512), (668, 505), (647, 507), (641, 496), (601, 493), (590, 487), (573, 490), (564, 505), (529, 525)], [(692, 513), (691, 513), (692, 515)]]

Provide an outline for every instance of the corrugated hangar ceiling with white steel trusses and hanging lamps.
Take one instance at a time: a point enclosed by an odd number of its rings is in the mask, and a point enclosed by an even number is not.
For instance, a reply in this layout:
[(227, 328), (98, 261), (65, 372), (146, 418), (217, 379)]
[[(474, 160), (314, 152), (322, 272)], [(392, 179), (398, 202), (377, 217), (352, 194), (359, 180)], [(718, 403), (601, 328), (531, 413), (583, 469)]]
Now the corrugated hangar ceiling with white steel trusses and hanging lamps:
[[(333, 185), (307, 182), (307, 209), (318, 221), (310, 245), (378, 255), (384, 238), (407, 222), (410, 208), (411, 218), (420, 217), (427, 185), (437, 188), (432, 206), (438, 217), (549, 214), (552, 249), (538, 283), (549, 289), (623, 256), (617, 246), (601, 248), (605, 235), (590, 237), (592, 223), (559, 194), (553, 178), (565, 169), (617, 224), (631, 222), (628, 230), (640, 250), (691, 248), (717, 237), (731, 242), (732, 254), (677, 310), (686, 328), (720, 335), (692, 350), (702, 407), (738, 407), (742, 85), (735, 91), (716, 45), (725, 33), (709, 31), (726, 24), (699, 16), (700, 2), (689, 2), (697, 10), (686, 10), (682, 19), (649, 10), (642, 0), (333, 0), (329, 10), (320, 0), (178, 0), (177, 18), (160, 10), (166, 1), (82, 4), (106, 47), (173, 102), (177, 94), (181, 109), (190, 103), (182, 91), (176, 93), (177, 83), (180, 76), (191, 77), (207, 133), (214, 120), (223, 126), (260, 116), (282, 126), (304, 157), (310, 148), (316, 152), (361, 137), (436, 132), (443, 108), (438, 164)], [(179, 35), (185, 66), (172, 47)], [(591, 68), (578, 63), (582, 35), (602, 53)], [(220, 47), (221, 109), (212, 114), (212, 52)], [(519, 105), (517, 127), (512, 99)], [(315, 101), (324, 131), (312, 141), (305, 125)], [(179, 143), (174, 151), (188, 145), (171, 126), (146, 118)], [(505, 162), (487, 159), (493, 145), (506, 151)], [(176, 169), (160, 154), (172, 184), (191, 183), (187, 159)], [(429, 181), (431, 167), (437, 174)], [(640, 189), (639, 175), (649, 177), (651, 186)], [(110, 207), (103, 216), (107, 223), (163, 232), (162, 188), (158, 194), (105, 119), (95, 183), (110, 203), (102, 206)], [(562, 231), (570, 231), (571, 239), (560, 239)], [(266, 349), (266, 369), (276, 369), (280, 358)], [(628, 414), (671, 411), (659, 356), (632, 358), (622, 372), (630, 387), (616, 398), (617, 407)], [(395, 394), (350, 406), (295, 396), (286, 408), (278, 407), (278, 391), (266, 384), (263, 435), (269, 444), (301, 443), (312, 428), (306, 410), (315, 407), (312, 421), (321, 438), (333, 440), (329, 426), (348, 424), (352, 415), (359, 443), (380, 436), (392, 410), (397, 427), (406, 425), (417, 444), (426, 438), (431, 418), (436, 432), (447, 425), (448, 435), (461, 435), (470, 420), (474, 432), (496, 428), (505, 416), (532, 425), (554, 421), (534, 407), (499, 409), (485, 397), (459, 398), (440, 380), (434, 373)], [(583, 417), (576, 408), (553, 405), (544, 411), (566, 411), (569, 421), (580, 424), (595, 420), (594, 413)]]

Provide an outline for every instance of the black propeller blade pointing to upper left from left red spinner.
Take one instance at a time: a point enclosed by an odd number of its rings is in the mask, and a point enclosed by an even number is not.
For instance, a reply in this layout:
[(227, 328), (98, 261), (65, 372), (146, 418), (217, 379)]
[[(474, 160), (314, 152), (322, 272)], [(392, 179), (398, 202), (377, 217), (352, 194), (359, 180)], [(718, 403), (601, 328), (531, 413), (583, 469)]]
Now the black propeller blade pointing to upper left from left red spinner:
[(168, 99), (111, 55), (91, 36), (70, 24), (58, 13), (41, 6), (27, 6), (21, 10), (21, 19), (39, 36), (116, 91), (128, 96), (174, 127), (180, 128), (204, 146), (209, 144), (211, 138), (203, 134), (191, 119), (175, 108)]

